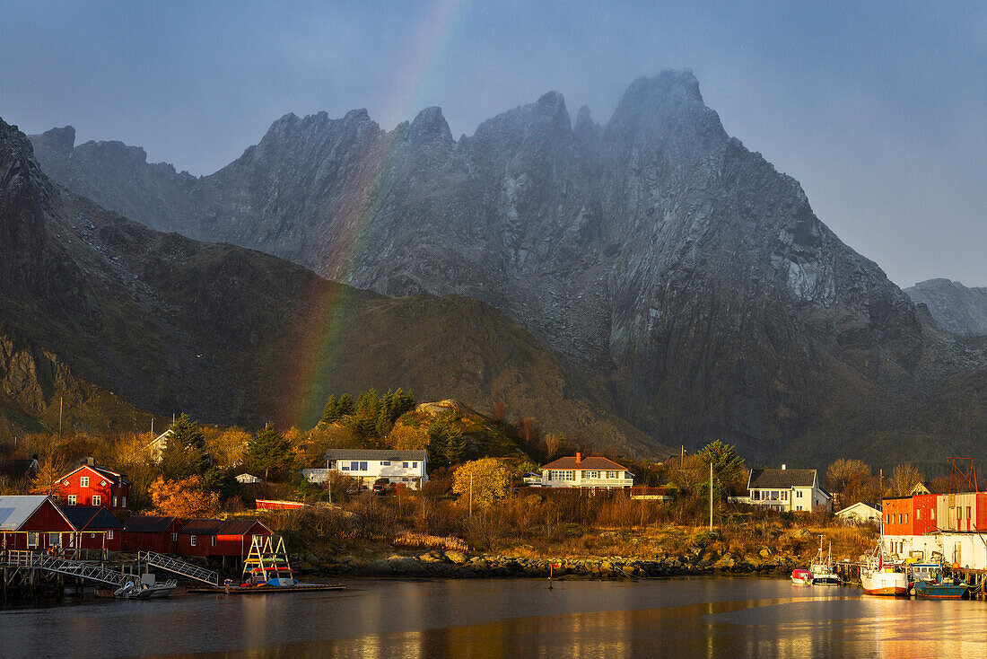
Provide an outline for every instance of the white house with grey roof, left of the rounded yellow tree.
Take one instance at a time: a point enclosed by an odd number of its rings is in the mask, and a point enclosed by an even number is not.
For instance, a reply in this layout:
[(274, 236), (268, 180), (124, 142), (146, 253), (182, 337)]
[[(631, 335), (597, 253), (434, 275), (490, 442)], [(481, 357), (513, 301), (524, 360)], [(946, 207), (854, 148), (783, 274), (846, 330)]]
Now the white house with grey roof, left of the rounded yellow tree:
[(392, 483), (404, 483), (418, 489), (428, 482), (425, 472), (428, 455), (424, 451), (390, 449), (330, 449), (326, 452), (326, 469), (305, 469), (312, 482), (324, 482), (329, 470), (356, 478), (364, 487), (372, 487), (380, 478)]

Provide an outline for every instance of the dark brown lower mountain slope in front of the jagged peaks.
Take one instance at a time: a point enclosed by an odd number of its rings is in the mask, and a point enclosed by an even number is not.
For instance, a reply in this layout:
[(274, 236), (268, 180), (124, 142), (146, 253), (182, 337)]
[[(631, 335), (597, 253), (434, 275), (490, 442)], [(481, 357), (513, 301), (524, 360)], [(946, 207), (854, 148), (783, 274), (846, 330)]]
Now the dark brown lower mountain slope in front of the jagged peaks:
[(549, 432), (615, 451), (653, 446), (593, 401), (597, 385), (478, 300), (389, 298), (260, 252), (147, 228), (53, 184), (27, 137), (0, 120), (8, 433), (54, 427), (59, 398), (83, 429), (114, 405), (131, 425), (148, 410), (311, 427), (330, 393), (388, 386), (481, 409), (503, 403)]

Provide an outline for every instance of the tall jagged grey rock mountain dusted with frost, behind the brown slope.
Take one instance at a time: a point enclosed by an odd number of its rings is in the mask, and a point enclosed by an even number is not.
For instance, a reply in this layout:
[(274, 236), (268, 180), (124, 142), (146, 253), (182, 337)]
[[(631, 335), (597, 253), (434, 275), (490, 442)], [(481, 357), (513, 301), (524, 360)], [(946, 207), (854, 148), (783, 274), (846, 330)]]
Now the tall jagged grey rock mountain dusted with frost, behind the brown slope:
[[(42, 165), (95, 161), (82, 146)], [(362, 110), (286, 115), (192, 184), (151, 167), (157, 188), (132, 193), (118, 167), (83, 170), (132, 206), (193, 208), (140, 221), (500, 309), (658, 443), (719, 438), (758, 462), (870, 454), (987, 364), (727, 135), (689, 71), (636, 80), (606, 124), (585, 108), (573, 124), (558, 93), (458, 140), (437, 108), (392, 131)]]

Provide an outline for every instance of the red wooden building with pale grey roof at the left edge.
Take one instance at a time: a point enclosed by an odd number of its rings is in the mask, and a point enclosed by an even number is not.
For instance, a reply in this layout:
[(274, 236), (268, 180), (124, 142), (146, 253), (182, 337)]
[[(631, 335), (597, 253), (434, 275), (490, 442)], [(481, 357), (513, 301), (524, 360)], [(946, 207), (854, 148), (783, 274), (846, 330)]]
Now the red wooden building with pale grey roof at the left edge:
[(0, 496), (0, 550), (67, 546), (72, 523), (46, 496)]

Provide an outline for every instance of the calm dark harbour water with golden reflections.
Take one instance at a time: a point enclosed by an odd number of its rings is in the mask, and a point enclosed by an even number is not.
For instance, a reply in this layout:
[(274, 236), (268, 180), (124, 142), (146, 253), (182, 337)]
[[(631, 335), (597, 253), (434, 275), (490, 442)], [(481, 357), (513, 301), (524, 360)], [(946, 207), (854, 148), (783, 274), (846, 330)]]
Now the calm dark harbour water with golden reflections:
[(0, 612), (17, 657), (983, 656), (987, 603), (781, 579), (351, 580), (344, 592), (186, 595)]

